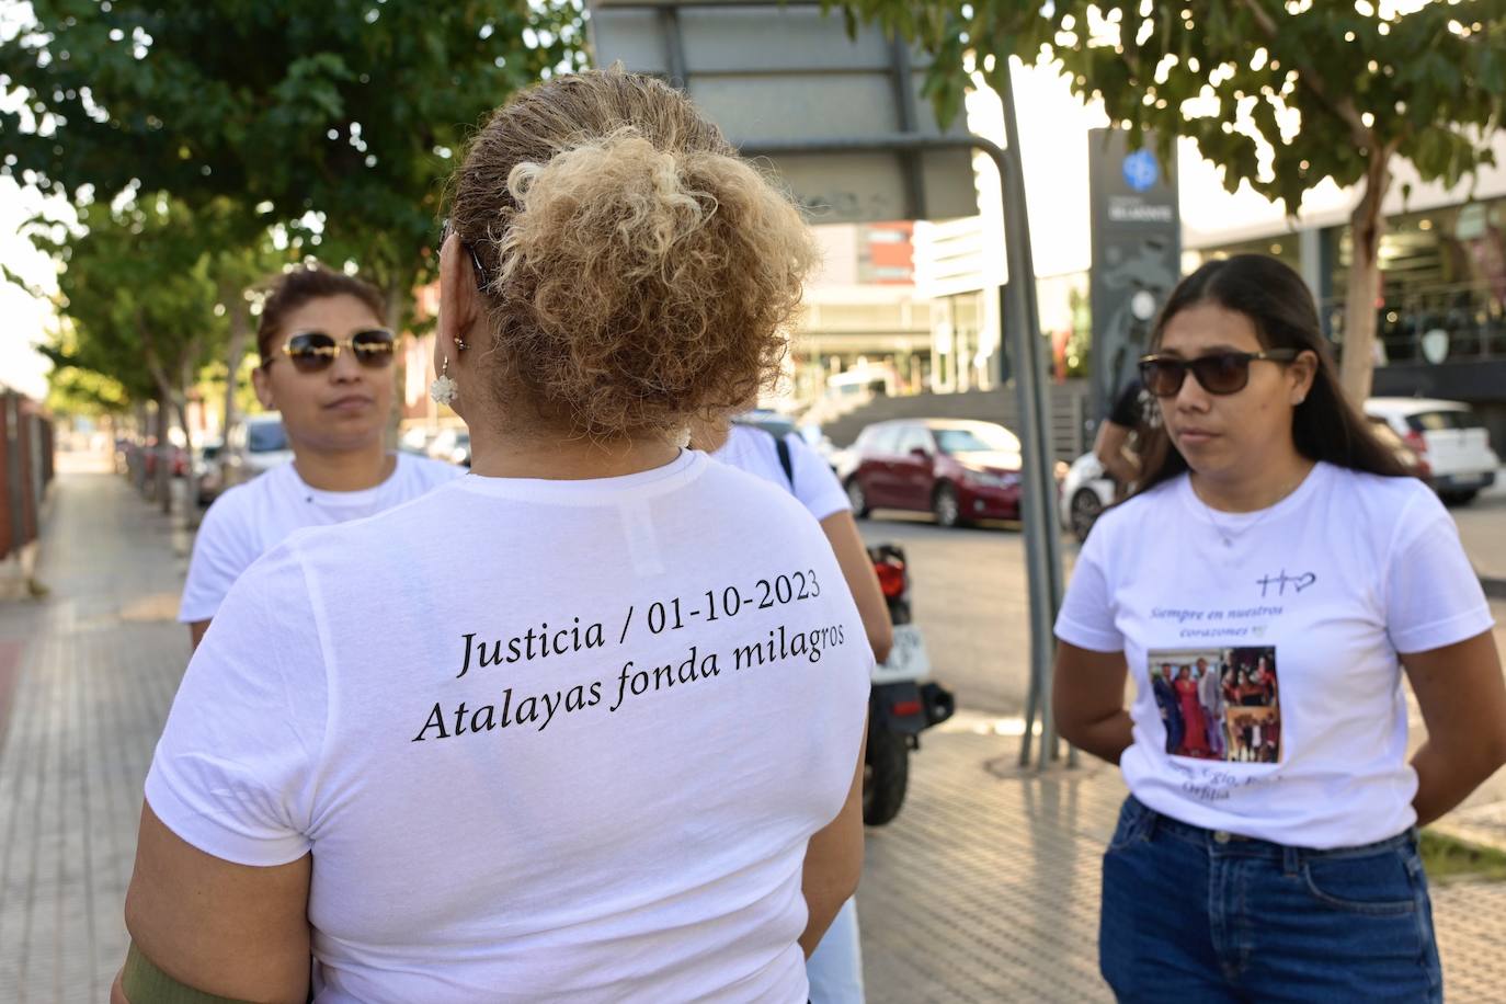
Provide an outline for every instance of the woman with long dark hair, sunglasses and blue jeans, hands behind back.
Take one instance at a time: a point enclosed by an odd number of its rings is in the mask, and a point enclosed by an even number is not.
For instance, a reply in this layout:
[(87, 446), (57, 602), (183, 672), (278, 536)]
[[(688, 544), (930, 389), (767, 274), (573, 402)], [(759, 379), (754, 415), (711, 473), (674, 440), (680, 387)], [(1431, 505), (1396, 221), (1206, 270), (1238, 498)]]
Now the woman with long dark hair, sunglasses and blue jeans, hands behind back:
[[(1288, 266), (1203, 265), (1152, 348), (1160, 443), (1056, 626), (1062, 735), (1130, 787), (1104, 977), (1122, 1001), (1441, 999), (1416, 828), (1506, 760), (1491, 611), (1453, 522), (1343, 397)], [(1259, 667), (1224, 709), (1244, 754), (1167, 748), (1146, 670), (1200, 658)], [(1404, 673), (1428, 724), (1410, 760)]]

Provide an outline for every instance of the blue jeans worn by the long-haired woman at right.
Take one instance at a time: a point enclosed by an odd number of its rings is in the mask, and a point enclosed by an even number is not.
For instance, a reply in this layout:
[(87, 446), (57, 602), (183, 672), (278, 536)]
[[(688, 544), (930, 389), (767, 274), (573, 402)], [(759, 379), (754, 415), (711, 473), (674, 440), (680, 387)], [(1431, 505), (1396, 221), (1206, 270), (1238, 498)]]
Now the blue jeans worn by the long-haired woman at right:
[(1416, 831), (1306, 850), (1134, 796), (1104, 853), (1098, 965), (1122, 1002), (1443, 1001)]

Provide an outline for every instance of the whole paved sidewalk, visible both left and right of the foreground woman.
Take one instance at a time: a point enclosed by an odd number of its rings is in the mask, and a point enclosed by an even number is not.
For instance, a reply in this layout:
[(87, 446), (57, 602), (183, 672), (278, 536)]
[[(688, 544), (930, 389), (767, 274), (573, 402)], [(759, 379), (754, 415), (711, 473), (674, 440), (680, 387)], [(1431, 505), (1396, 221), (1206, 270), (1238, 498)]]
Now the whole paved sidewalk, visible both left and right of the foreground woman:
[[(182, 533), (114, 476), (56, 492), (51, 596), (0, 604), (0, 1001), (23, 1004), (105, 998), (142, 778), (188, 656)], [(928, 733), (904, 811), (869, 832), (873, 1004), (1108, 999), (1098, 861), (1123, 787), (1102, 766), (1020, 774), (995, 727), (964, 712)], [(1501, 999), (1506, 884), (1438, 888), (1435, 909), (1450, 1001)]]

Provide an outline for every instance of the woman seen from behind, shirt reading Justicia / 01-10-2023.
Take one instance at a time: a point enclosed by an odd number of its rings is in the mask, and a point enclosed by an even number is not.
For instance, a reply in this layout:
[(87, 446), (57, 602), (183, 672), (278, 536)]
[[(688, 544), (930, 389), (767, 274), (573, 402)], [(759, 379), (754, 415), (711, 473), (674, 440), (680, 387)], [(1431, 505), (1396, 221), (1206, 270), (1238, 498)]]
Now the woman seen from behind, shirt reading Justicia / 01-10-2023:
[(681, 447), (773, 378), (800, 215), (682, 95), (589, 72), (495, 113), (450, 224), (471, 476), (235, 584), (117, 999), (804, 1001), (873, 656), (801, 504)]

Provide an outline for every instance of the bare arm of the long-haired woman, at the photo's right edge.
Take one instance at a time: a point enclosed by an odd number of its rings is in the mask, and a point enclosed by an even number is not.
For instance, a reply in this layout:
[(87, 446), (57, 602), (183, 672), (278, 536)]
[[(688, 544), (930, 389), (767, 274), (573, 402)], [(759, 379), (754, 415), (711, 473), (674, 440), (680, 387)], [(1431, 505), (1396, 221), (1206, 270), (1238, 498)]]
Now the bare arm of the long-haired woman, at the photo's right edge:
[(1506, 685), (1491, 632), (1402, 656), (1428, 724), (1413, 756), (1417, 825), (1431, 823), (1468, 798), (1506, 763)]

